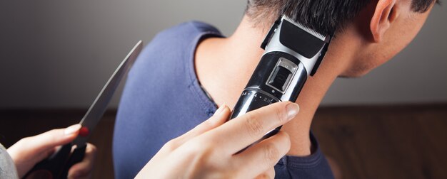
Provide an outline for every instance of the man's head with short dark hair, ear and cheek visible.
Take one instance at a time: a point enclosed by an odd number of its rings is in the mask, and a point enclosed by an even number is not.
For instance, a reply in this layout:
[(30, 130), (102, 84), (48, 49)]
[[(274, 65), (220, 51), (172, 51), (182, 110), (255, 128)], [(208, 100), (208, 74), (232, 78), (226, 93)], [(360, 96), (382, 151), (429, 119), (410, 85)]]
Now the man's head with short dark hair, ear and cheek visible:
[(255, 26), (266, 27), (286, 14), (319, 33), (336, 33), (333, 43), (356, 41), (356, 47), (351, 48), (355, 60), (341, 75), (361, 76), (413, 40), (435, 1), (248, 0), (246, 15)]

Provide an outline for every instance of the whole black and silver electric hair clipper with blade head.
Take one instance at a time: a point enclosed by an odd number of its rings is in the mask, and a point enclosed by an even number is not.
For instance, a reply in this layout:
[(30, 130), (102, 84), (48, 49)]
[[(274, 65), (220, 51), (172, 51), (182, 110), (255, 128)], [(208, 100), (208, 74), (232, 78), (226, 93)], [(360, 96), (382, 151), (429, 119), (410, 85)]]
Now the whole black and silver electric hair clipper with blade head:
[[(308, 76), (315, 74), (323, 60), (330, 38), (286, 16), (276, 21), (261, 45), (265, 52), (230, 119), (275, 102), (295, 102)], [(269, 131), (260, 141), (280, 129)]]

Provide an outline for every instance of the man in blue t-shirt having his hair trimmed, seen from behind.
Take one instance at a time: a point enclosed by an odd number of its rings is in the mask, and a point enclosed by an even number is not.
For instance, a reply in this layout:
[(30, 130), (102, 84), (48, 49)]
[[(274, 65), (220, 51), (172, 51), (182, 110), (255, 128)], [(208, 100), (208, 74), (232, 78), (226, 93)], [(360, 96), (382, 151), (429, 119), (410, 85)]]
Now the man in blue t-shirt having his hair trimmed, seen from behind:
[(405, 48), (434, 3), (249, 0), (245, 16), (228, 38), (198, 22), (160, 33), (129, 73), (121, 99), (114, 134), (116, 177), (134, 177), (166, 141), (211, 116), (216, 104), (233, 108), (261, 58), (259, 45), (266, 32), (286, 14), (320, 33), (335, 32), (335, 37), (296, 101), (300, 113), (281, 129), (291, 138), (291, 150), (275, 166), (276, 177), (331, 178), (309, 133), (318, 104), (336, 77), (360, 77)]

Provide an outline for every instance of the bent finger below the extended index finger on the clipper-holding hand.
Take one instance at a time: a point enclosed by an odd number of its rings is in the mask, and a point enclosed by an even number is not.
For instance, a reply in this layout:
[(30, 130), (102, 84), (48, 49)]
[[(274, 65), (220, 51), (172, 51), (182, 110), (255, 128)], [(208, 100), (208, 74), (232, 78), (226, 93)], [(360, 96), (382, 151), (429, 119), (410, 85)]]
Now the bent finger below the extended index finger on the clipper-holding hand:
[(232, 156), (235, 166), (246, 166), (238, 168), (245, 176), (253, 178), (273, 168), (281, 157), (285, 156), (290, 149), (288, 134), (279, 131), (278, 134), (257, 143), (242, 153)]

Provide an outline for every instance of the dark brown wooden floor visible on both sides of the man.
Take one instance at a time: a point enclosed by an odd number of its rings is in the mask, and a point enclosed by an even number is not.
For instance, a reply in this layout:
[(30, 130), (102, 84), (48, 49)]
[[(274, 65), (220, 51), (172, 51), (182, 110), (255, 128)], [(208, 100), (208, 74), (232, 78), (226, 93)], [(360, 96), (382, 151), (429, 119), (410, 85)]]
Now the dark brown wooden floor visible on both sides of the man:
[[(75, 124), (86, 110), (0, 110), (0, 143)], [(94, 178), (114, 178), (107, 112), (91, 138)], [(343, 178), (447, 178), (447, 104), (321, 107), (312, 126)]]

